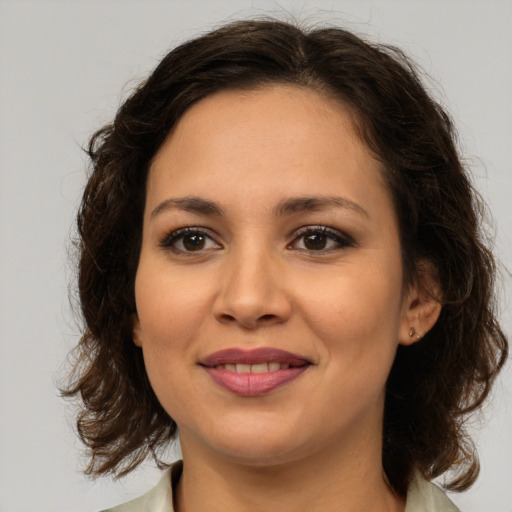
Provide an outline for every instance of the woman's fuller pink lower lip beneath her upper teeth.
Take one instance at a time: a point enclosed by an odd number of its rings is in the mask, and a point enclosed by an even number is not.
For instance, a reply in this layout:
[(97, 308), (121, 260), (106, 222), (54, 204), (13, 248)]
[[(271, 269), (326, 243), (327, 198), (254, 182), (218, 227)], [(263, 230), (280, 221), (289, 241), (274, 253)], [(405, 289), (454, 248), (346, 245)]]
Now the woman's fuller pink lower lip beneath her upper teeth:
[(295, 380), (308, 365), (265, 373), (236, 373), (217, 368), (206, 368), (210, 377), (220, 386), (240, 396), (259, 396), (270, 393)]

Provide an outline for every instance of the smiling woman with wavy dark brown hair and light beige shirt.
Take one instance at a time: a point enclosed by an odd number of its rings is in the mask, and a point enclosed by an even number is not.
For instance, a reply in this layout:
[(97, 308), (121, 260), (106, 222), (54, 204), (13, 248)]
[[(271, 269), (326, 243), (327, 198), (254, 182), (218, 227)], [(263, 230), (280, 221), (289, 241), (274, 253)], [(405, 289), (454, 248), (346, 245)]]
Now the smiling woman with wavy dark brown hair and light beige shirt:
[[(400, 51), (228, 25), (169, 53), (93, 137), (88, 472), (183, 462), (115, 511), (453, 511), (502, 367), (494, 263), (449, 118)], [(158, 459), (157, 459), (158, 460)]]

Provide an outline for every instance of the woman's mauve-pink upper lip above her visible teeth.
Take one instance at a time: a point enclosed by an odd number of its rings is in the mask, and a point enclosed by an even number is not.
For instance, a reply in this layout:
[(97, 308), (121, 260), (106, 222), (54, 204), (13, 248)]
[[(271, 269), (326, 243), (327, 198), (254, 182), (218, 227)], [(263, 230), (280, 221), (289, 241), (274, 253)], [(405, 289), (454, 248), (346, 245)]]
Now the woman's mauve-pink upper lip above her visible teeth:
[(228, 348), (210, 354), (200, 361), (200, 364), (215, 367), (222, 364), (258, 364), (275, 361), (288, 363), (290, 366), (304, 366), (311, 362), (297, 354), (292, 354), (277, 348), (262, 347), (256, 349)]

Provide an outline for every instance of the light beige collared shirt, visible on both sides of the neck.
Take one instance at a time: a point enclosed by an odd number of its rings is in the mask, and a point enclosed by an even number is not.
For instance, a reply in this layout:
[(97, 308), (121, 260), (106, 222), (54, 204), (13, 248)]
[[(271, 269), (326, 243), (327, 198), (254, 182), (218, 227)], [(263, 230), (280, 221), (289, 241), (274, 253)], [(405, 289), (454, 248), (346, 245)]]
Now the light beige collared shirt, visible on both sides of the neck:
[[(165, 471), (160, 482), (140, 498), (103, 512), (174, 512), (172, 488), (179, 480), (182, 462), (178, 461)], [(419, 475), (407, 492), (404, 512), (460, 512), (439, 487)]]

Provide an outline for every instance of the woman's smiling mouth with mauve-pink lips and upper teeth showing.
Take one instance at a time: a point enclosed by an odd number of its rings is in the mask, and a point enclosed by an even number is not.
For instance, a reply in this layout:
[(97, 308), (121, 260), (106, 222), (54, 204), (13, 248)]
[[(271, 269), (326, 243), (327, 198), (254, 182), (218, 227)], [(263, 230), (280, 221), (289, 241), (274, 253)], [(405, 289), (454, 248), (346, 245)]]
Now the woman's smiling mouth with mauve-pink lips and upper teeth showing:
[(241, 396), (258, 396), (295, 380), (311, 363), (290, 352), (260, 348), (221, 350), (200, 365), (224, 389)]

